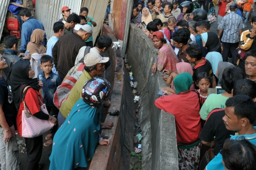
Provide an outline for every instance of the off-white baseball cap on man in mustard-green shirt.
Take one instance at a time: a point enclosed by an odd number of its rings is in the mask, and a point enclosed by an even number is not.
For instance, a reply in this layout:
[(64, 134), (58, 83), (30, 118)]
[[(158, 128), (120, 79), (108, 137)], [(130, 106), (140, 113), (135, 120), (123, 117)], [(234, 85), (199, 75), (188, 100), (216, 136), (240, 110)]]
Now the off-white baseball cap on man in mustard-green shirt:
[(102, 57), (100, 54), (88, 53), (84, 56), (83, 63), (85, 66), (90, 67), (98, 63), (107, 63), (109, 60), (109, 57)]

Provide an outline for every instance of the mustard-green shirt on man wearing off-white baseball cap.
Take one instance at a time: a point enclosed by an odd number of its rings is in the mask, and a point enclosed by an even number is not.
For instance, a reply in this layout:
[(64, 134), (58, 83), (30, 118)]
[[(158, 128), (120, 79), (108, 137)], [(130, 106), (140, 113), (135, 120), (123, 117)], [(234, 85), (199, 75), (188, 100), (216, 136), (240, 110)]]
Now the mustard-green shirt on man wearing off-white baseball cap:
[(88, 72), (84, 71), (74, 87), (71, 89), (68, 98), (62, 103), (60, 107), (61, 114), (66, 118), (73, 108), (74, 104), (82, 98), (82, 88), (86, 81), (90, 80), (91, 76)]

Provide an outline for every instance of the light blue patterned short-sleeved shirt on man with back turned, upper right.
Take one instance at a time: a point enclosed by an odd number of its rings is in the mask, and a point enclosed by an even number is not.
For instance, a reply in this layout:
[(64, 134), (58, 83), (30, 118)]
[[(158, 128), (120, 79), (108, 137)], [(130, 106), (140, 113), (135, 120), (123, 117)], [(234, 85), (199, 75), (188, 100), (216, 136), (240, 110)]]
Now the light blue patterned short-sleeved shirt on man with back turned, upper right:
[(226, 15), (219, 24), (218, 29), (223, 30), (221, 41), (224, 43), (237, 43), (239, 30), (244, 28), (243, 19), (235, 12)]

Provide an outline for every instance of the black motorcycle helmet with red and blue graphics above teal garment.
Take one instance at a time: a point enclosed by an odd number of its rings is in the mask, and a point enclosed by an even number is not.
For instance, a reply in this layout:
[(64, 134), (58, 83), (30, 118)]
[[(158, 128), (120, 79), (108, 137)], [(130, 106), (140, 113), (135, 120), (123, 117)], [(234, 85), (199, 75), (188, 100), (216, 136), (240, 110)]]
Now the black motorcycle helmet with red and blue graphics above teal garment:
[(82, 100), (88, 105), (100, 107), (110, 96), (110, 82), (101, 77), (86, 81), (82, 88)]

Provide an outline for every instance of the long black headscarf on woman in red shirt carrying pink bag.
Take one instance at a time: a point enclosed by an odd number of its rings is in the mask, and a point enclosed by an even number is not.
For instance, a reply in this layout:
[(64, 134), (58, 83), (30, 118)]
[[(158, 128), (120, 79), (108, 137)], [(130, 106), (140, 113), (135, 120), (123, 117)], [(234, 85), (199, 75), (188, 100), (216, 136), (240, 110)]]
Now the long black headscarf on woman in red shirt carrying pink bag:
[(38, 82), (33, 81), (33, 79), (30, 79), (28, 76), (29, 66), (29, 61), (20, 60), (13, 65), (10, 71), (11, 92), (13, 94), (16, 108), (19, 108), (22, 100), (23, 89), (26, 86), (30, 86), (37, 91), (39, 90)]

